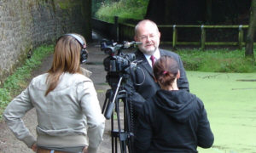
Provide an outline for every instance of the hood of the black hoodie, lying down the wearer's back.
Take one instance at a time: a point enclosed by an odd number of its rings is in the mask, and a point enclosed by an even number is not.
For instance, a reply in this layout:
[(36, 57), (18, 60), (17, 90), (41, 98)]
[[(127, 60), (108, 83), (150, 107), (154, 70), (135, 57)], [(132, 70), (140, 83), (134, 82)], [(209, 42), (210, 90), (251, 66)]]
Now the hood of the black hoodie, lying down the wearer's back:
[(177, 122), (187, 122), (197, 105), (195, 95), (184, 90), (167, 91), (160, 89), (157, 91), (155, 99), (160, 110)]

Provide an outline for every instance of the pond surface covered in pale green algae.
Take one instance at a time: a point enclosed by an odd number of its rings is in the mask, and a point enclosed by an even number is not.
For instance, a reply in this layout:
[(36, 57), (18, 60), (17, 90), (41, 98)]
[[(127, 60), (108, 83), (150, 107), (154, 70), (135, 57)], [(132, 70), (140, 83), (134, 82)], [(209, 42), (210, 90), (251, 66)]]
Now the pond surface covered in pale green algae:
[(256, 73), (187, 71), (190, 92), (205, 104), (215, 140), (203, 153), (256, 152)]

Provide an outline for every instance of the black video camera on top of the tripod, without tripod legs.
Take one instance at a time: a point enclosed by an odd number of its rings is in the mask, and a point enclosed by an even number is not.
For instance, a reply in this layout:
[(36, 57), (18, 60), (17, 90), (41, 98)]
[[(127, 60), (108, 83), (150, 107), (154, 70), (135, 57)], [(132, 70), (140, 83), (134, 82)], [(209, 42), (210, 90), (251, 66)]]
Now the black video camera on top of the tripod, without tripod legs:
[(101, 42), (101, 50), (109, 56), (103, 60), (105, 71), (108, 71), (107, 81), (111, 87), (116, 87), (119, 77), (127, 78), (131, 69), (136, 67), (135, 54), (124, 54), (122, 49), (135, 48), (142, 42), (117, 43), (106, 39)]

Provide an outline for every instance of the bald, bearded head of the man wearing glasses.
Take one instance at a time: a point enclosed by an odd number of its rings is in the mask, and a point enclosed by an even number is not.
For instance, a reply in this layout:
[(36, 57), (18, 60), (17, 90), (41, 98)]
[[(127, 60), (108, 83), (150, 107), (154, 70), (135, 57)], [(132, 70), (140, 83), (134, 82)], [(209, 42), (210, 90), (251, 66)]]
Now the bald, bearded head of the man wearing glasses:
[(144, 54), (154, 54), (160, 44), (160, 32), (157, 27), (150, 22), (142, 23), (137, 28), (137, 35), (134, 37), (135, 41), (143, 42), (138, 45), (138, 48)]

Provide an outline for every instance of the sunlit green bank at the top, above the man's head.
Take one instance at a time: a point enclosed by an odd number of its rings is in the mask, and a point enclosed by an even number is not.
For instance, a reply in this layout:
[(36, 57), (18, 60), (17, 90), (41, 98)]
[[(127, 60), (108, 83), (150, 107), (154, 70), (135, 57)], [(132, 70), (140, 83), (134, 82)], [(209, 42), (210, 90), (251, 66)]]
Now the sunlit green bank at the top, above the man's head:
[(96, 18), (113, 22), (113, 16), (120, 19), (143, 19), (148, 6), (148, 0), (120, 0), (119, 2), (102, 2), (96, 11)]

